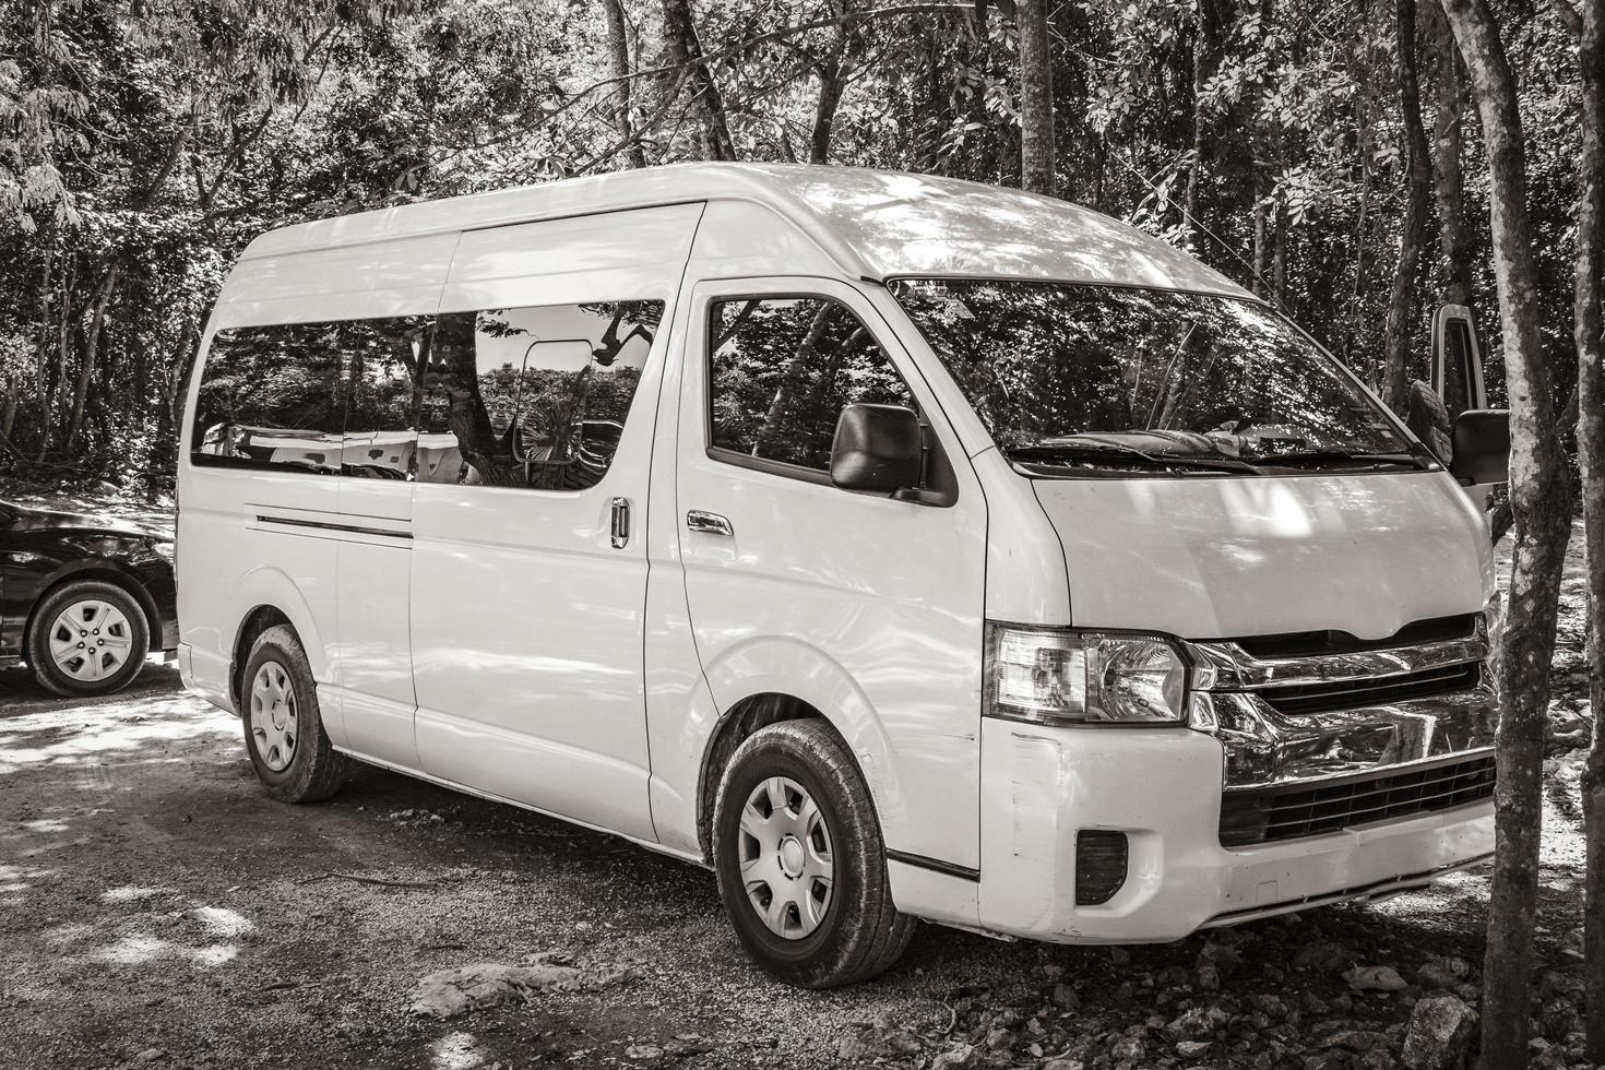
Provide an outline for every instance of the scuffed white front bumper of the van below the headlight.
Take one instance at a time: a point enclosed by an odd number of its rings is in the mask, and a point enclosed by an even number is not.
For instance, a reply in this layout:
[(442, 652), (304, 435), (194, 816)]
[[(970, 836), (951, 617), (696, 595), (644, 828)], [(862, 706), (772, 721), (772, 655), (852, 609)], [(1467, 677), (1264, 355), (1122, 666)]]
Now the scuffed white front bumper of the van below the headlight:
[[(979, 926), (1056, 943), (1154, 943), (1422, 887), (1493, 850), (1493, 800), (1226, 849), (1225, 749), (1184, 727), (982, 719)], [(1082, 829), (1127, 836), (1125, 882), (1075, 902)]]

